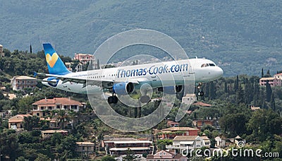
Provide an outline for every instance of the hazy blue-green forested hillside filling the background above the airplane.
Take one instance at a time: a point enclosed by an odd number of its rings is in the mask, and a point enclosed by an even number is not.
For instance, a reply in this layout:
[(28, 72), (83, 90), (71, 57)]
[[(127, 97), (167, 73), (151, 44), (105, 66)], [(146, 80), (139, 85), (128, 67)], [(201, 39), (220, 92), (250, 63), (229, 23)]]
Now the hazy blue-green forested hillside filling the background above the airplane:
[(1, 1), (0, 44), (59, 54), (94, 53), (118, 32), (148, 28), (173, 37), (188, 56), (205, 56), (225, 76), (282, 69), (282, 1)]

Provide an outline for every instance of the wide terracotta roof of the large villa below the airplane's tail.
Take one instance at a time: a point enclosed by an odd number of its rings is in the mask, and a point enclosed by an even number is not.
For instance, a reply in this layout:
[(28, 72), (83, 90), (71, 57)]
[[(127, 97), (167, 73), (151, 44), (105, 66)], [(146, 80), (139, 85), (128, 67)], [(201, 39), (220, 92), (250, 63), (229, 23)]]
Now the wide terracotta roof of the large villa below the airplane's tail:
[(79, 105), (81, 106), (81, 102), (71, 100), (65, 97), (54, 97), (53, 99), (42, 99), (37, 102), (34, 102), (32, 105)]

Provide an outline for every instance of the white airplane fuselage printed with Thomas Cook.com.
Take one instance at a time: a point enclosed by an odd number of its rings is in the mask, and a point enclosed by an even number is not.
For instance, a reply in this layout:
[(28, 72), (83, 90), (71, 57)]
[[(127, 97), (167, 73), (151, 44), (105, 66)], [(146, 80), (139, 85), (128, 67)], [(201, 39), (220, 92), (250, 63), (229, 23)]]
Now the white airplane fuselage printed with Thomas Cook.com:
[[(184, 80), (195, 81), (195, 83), (204, 83), (214, 81), (223, 75), (223, 70), (209, 59), (186, 59), (179, 61), (166, 61), (155, 64), (140, 64), (135, 66), (119, 66), (116, 68), (104, 68), (91, 71), (81, 71), (77, 73), (68, 73), (64, 75), (70, 78), (85, 78), (87, 80), (111, 80), (114, 82), (138, 82), (135, 88), (148, 83), (152, 88), (162, 87), (164, 84), (183, 85)], [(188, 78), (188, 79), (184, 79)], [(44, 78), (44, 85), (66, 90), (72, 93), (91, 93), (98, 92), (102, 88), (98, 85), (87, 85), (84, 83), (75, 83), (61, 80), (54, 81), (54, 84), (47, 82)], [(164, 83), (165, 82), (165, 83)]]

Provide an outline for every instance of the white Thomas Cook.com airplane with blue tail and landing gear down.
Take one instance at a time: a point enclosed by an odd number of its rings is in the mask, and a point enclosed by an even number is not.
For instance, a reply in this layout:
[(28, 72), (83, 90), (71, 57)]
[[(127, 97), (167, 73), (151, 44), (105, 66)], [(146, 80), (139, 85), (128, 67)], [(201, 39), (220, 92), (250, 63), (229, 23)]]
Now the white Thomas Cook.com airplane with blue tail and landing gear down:
[[(43, 48), (49, 73), (35, 73), (35, 75), (47, 77), (42, 80), (42, 84), (72, 93), (109, 91), (112, 94), (108, 97), (109, 104), (118, 102), (116, 95), (133, 93), (146, 83), (158, 91), (180, 93), (183, 91), (185, 76), (195, 79), (195, 84), (199, 88), (197, 95), (202, 96), (204, 95), (201, 90), (202, 83), (214, 81), (223, 76), (223, 70), (213, 61), (198, 58), (71, 72), (63, 64), (51, 44), (44, 43)], [(166, 85), (163, 86), (162, 82)], [(146, 93), (140, 97), (142, 103), (149, 100), (150, 97)]]

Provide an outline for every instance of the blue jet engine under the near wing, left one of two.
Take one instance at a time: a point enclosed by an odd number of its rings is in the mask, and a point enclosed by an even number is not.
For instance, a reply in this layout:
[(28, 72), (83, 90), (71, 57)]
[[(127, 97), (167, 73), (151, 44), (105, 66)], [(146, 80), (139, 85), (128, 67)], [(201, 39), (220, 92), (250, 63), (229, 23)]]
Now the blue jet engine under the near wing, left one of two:
[(118, 95), (127, 95), (133, 93), (134, 85), (130, 82), (114, 83), (113, 92)]

